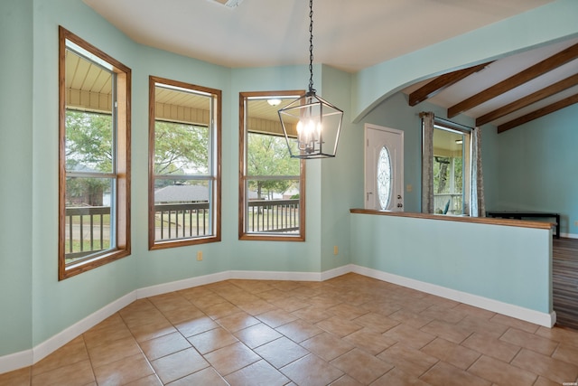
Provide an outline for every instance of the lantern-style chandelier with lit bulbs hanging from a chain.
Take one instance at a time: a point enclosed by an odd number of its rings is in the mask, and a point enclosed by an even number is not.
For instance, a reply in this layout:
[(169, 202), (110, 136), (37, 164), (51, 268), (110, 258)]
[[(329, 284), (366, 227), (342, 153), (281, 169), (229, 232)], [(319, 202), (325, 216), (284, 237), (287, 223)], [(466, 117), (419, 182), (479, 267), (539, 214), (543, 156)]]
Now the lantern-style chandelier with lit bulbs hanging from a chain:
[(343, 111), (315, 94), (313, 89), (313, 0), (309, 1), (309, 20), (309, 90), (281, 108), (279, 119), (293, 158), (334, 157)]

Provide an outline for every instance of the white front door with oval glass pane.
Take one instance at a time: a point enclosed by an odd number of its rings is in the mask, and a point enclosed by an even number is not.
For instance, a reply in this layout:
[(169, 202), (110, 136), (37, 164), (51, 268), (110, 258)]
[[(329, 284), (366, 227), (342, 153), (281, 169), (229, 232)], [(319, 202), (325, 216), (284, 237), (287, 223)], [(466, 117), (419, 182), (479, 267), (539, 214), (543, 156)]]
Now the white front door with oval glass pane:
[(365, 208), (404, 210), (404, 132), (365, 125)]

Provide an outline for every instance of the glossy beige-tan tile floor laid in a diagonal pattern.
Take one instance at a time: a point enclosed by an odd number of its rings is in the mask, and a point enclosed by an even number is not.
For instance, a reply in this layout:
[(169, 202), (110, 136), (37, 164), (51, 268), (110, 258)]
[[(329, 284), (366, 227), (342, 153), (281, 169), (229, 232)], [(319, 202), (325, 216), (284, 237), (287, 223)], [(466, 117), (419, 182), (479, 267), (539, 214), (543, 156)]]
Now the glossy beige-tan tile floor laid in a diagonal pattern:
[(228, 280), (140, 299), (0, 385), (561, 385), (578, 331), (373, 278)]

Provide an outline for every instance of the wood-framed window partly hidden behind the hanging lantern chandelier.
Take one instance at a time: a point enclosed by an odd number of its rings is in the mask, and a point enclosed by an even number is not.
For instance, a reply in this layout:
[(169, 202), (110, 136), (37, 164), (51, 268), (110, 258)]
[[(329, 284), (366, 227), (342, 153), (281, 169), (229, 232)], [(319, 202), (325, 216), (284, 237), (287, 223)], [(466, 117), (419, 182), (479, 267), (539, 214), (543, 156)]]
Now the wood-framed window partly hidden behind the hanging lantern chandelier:
[(240, 94), (240, 240), (305, 240), (305, 161), (291, 158), (277, 113), (302, 94)]

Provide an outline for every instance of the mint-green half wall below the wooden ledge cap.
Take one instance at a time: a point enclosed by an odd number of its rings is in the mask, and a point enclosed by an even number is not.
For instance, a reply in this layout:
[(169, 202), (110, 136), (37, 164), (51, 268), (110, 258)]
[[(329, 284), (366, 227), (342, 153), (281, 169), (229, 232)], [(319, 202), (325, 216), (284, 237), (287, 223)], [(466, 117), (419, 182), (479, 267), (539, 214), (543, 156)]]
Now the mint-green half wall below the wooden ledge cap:
[(359, 213), (351, 214), (351, 230), (352, 262), (360, 267), (550, 319), (549, 230)]

